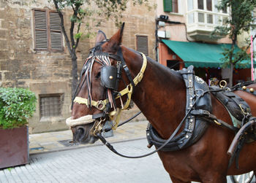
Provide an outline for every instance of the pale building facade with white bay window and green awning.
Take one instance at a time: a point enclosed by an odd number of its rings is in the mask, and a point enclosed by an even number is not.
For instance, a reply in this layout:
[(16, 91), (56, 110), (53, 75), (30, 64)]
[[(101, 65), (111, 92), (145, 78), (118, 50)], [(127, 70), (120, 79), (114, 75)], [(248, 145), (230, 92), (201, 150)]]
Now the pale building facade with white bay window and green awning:
[[(159, 63), (172, 69), (194, 65), (195, 73), (206, 82), (214, 78), (228, 82), (230, 69), (222, 68), (220, 59), (223, 47), (230, 47), (231, 41), (228, 37), (211, 37), (214, 27), (225, 24), (230, 17), (229, 9), (216, 8), (218, 1), (157, 1)], [(236, 68), (233, 84), (249, 79), (249, 69)]]

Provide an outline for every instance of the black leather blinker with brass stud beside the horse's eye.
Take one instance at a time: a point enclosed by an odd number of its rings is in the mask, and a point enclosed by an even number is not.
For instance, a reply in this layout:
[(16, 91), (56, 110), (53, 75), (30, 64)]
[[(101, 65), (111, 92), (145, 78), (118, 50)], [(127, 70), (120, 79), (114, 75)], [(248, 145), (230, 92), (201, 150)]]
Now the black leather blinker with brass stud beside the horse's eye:
[(116, 78), (117, 78), (116, 66), (102, 66), (101, 83), (104, 87), (117, 90)]

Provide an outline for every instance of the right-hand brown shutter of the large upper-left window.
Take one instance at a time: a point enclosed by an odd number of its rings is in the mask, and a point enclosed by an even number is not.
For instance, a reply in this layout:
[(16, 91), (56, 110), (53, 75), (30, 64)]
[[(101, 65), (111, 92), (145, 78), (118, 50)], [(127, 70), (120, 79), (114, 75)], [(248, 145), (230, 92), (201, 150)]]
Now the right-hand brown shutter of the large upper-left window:
[(58, 12), (50, 12), (50, 47), (62, 50), (61, 18)]

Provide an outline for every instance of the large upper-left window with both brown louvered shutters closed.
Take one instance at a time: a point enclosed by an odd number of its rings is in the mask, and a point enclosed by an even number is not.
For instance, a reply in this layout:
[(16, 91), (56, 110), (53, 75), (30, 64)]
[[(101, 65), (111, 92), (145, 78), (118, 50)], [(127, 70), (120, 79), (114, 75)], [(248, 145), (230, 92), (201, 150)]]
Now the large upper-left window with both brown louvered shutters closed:
[(34, 9), (35, 50), (63, 50), (61, 20), (57, 12)]

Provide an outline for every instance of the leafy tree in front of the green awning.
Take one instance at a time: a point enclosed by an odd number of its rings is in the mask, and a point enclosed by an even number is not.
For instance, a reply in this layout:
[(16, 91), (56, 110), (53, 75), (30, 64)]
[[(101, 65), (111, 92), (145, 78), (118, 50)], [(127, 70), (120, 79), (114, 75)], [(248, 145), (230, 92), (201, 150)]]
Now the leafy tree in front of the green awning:
[[(220, 1), (217, 9), (230, 9), (230, 19), (223, 22), (224, 26), (217, 26), (212, 35), (213, 36), (229, 36), (231, 39), (231, 47), (224, 48), (222, 55), (224, 58), (223, 66), (230, 67), (230, 86), (233, 83), (233, 69), (236, 65), (241, 64), (241, 61), (249, 59), (249, 55), (246, 54), (246, 50), (249, 49), (250, 43), (249, 39), (246, 40), (248, 46), (244, 50), (238, 50), (236, 47), (236, 42), (238, 35), (243, 32), (249, 32), (251, 28), (254, 27), (252, 24), (255, 20), (252, 12), (256, 7), (256, 0), (222, 0)], [(253, 37), (255, 39), (255, 36)]]

